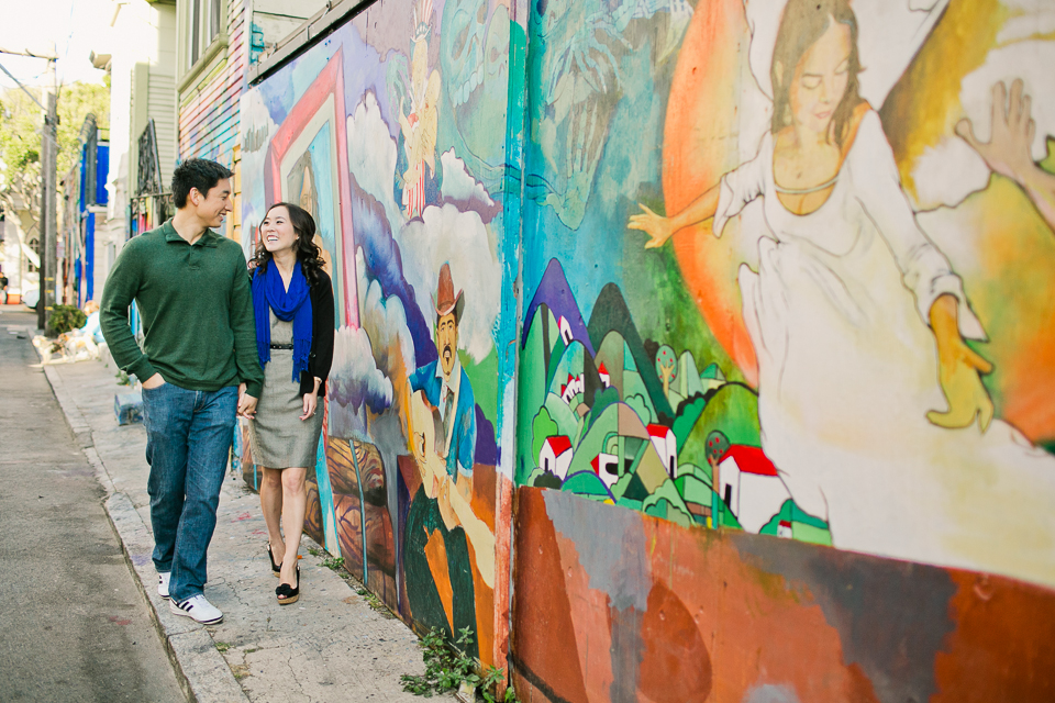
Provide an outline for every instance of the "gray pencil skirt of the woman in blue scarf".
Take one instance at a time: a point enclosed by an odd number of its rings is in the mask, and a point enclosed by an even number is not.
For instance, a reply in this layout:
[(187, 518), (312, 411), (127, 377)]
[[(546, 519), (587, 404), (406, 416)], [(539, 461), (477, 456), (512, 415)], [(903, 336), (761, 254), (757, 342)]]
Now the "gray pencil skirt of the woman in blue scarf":
[(293, 353), (271, 349), (264, 366), (264, 392), (249, 421), (249, 448), (253, 461), (268, 469), (306, 467), (314, 469), (322, 432), (323, 399), (315, 414), (301, 420), (304, 401), (300, 383), (293, 383)]

